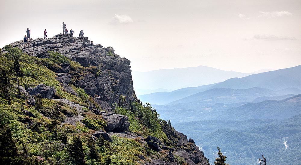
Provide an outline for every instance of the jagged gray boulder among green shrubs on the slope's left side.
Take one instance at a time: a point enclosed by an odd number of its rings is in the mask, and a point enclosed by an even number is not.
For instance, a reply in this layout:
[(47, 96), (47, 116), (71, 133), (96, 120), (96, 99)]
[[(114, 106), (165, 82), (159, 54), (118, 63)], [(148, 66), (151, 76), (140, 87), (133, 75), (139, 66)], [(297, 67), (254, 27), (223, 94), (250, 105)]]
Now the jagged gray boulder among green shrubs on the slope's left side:
[(39, 84), (28, 92), (29, 95), (40, 94), (42, 98), (51, 99), (52, 95), (56, 92), (54, 87), (46, 86), (45, 84)]

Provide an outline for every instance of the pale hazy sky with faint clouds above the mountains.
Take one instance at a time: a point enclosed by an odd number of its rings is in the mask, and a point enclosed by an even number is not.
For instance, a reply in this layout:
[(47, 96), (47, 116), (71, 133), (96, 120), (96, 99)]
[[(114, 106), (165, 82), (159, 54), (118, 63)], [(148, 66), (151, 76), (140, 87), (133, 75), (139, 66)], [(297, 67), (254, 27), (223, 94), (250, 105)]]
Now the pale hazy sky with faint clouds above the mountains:
[(197, 67), (253, 72), (301, 64), (300, 0), (4, 0), (0, 47), (83, 30), (132, 70)]

